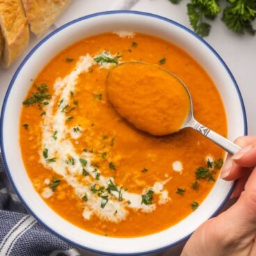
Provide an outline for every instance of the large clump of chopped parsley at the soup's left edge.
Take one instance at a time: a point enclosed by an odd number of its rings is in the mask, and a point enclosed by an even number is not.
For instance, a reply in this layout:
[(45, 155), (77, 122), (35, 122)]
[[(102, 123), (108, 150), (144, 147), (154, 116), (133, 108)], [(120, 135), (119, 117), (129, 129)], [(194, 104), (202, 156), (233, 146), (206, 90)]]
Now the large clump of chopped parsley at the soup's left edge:
[(41, 86), (35, 85), (36, 92), (31, 94), (31, 97), (27, 98), (22, 102), (24, 106), (31, 106), (33, 104), (40, 105), (45, 99), (50, 99), (51, 95), (48, 93), (48, 87), (45, 83), (42, 83)]

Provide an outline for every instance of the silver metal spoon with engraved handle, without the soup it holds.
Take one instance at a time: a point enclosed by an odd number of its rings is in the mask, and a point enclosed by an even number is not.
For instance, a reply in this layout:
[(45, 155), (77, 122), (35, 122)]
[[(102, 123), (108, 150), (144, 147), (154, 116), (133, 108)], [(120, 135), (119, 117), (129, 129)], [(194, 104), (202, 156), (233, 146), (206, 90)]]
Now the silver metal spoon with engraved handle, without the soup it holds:
[[(182, 130), (184, 128), (189, 128), (190, 127), (192, 129), (195, 129), (195, 131), (198, 131), (203, 136), (209, 138), (211, 141), (216, 143), (216, 145), (219, 145), (220, 147), (223, 148), (223, 150), (227, 151), (228, 153), (230, 153), (232, 155), (235, 154), (236, 152), (238, 152), (241, 149), (241, 147), (239, 147), (238, 145), (232, 143), (232, 141), (229, 141), (227, 138), (221, 136), (220, 134), (217, 134), (215, 131), (212, 131), (211, 129), (209, 129), (205, 125), (202, 125), (200, 122), (195, 120), (195, 118), (193, 116), (193, 102), (192, 102), (191, 94), (189, 93), (189, 89), (186, 87), (186, 85), (183, 83), (183, 81), (181, 79), (179, 79), (179, 77), (177, 77), (172, 72), (170, 72), (168, 70), (165, 70), (162, 67), (159, 67), (158, 65), (153, 65), (153, 64), (149, 64), (149, 63), (143, 63), (143, 62), (120, 63), (118, 65), (115, 65), (115, 67), (113, 67), (112, 70), (114, 70), (115, 68), (118, 68), (118, 66), (120, 66), (120, 65), (126, 65), (126, 64), (130, 65), (131, 63), (141, 64), (141, 65), (150, 65), (151, 67), (154, 66), (154, 67), (162, 70), (163, 72), (167, 72), (168, 74), (170, 74), (170, 76), (172, 76), (175, 79), (177, 79), (179, 81), (180, 85), (184, 86), (184, 88), (186, 89), (186, 92), (188, 93), (189, 100), (190, 100), (189, 114), (187, 115), (186, 120), (184, 121), (184, 124), (182, 125), (182, 127), (179, 127), (179, 129), (177, 129), (174, 132), (177, 132), (177, 131), (180, 131), (180, 130)], [(109, 71), (109, 74), (111, 73), (112, 70)], [(108, 83), (108, 78), (110, 77), (109, 74), (106, 77), (106, 83)]]

